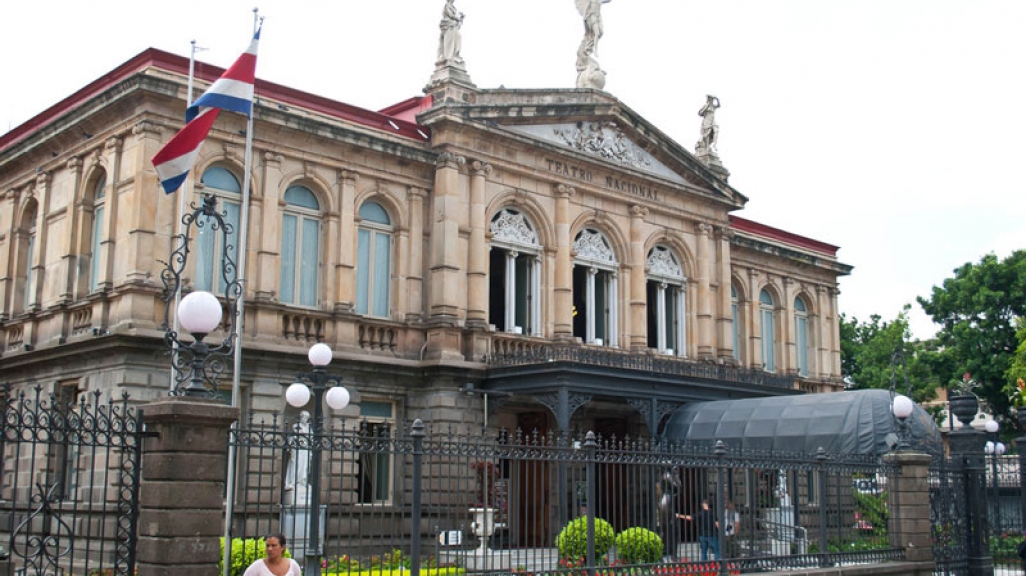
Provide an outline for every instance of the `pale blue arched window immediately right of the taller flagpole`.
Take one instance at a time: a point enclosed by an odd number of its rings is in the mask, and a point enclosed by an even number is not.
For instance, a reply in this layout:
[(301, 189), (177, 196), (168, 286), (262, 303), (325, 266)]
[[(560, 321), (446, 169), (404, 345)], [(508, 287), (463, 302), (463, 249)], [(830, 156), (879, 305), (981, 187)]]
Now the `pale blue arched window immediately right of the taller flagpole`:
[(309, 188), (291, 186), (281, 216), (281, 302), (317, 305), (319, 262), (320, 202)]

